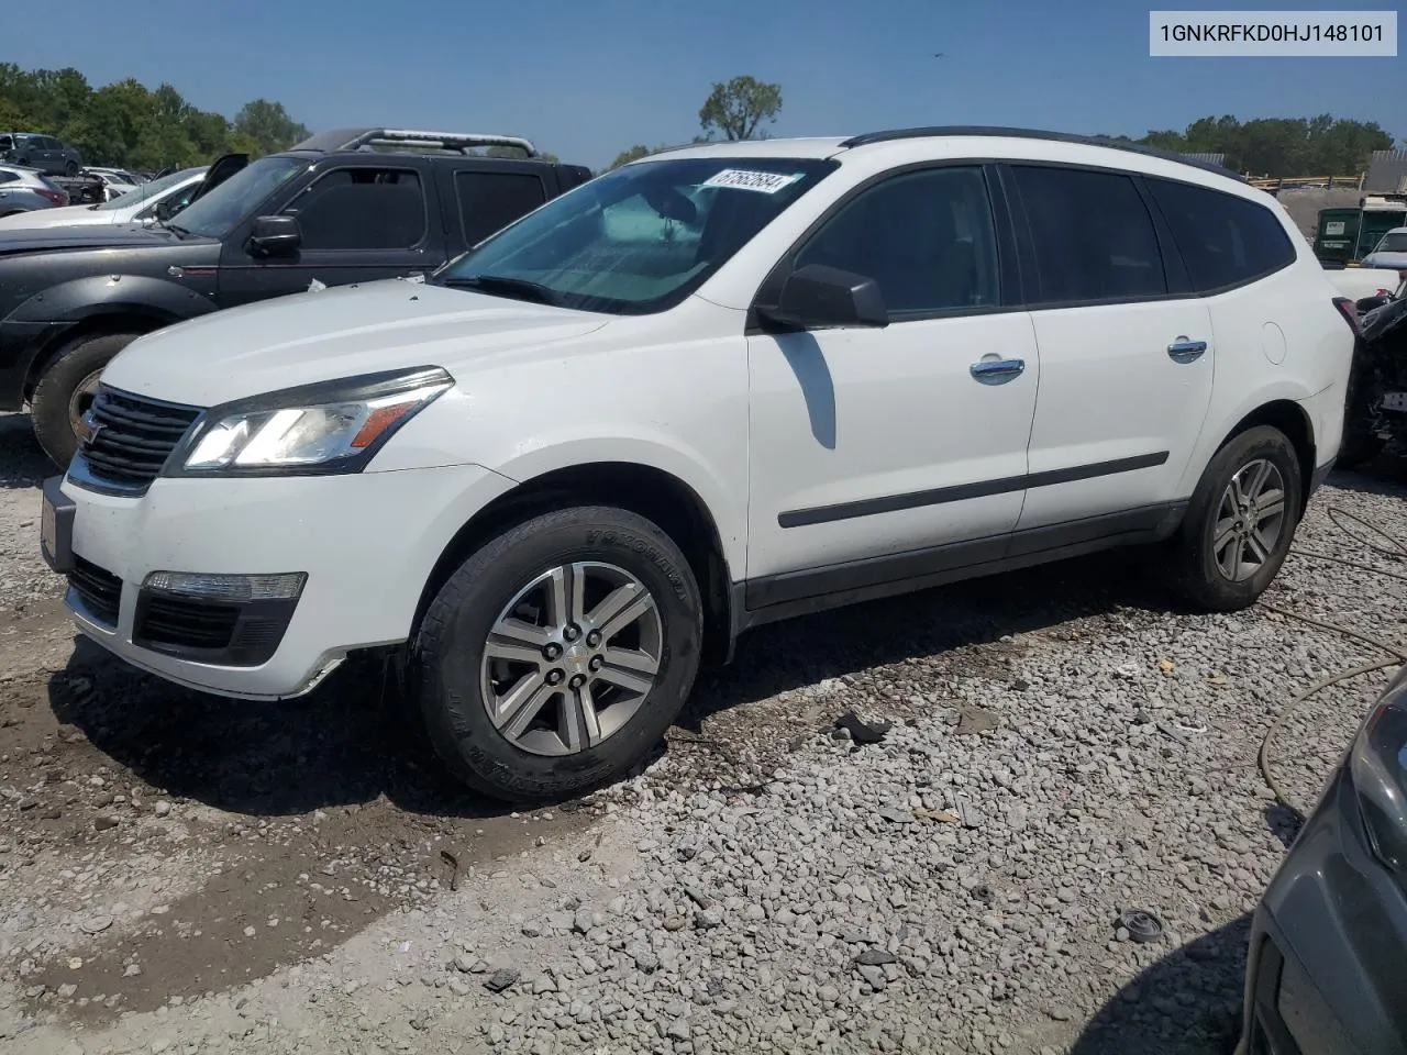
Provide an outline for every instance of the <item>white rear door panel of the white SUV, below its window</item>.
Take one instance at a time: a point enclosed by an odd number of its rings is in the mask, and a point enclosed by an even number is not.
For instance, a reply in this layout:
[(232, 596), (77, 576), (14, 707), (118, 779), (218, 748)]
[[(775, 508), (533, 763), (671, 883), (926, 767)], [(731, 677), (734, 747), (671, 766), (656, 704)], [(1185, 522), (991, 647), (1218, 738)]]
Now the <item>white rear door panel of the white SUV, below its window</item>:
[[(1041, 392), (1019, 530), (1169, 502), (1216, 367), (1200, 300), (1036, 311)], [(1206, 350), (1169, 352), (1179, 340)], [(1043, 480), (1050, 482), (1041, 484)]]

